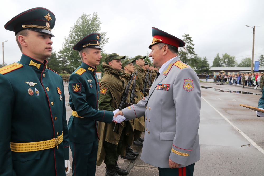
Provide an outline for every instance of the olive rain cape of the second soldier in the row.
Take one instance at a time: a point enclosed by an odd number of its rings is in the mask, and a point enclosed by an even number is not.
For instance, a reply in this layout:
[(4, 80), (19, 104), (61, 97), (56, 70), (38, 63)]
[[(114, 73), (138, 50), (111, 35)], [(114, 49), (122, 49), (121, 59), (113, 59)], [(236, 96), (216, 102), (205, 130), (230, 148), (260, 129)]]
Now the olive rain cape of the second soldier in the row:
[[(128, 73), (125, 73), (125, 70), (121, 70), (121, 72), (123, 73), (122, 78), (125, 81), (125, 84), (128, 84), (128, 82), (131, 79), (131, 76)], [(132, 81), (131, 86), (130, 86), (130, 91), (129, 91), (129, 96), (128, 96), (129, 100), (127, 100), (127, 102), (130, 102), (132, 84), (133, 84), (133, 81)], [(139, 87), (137, 84), (136, 84), (136, 88), (135, 88), (135, 94), (138, 96), (138, 98), (134, 97), (133, 104), (136, 104), (140, 100), (142, 100), (142, 97), (141, 97), (141, 94), (139, 91)], [(132, 103), (132, 102), (130, 102), (130, 103)], [(136, 131), (134, 131), (134, 139), (138, 139), (141, 136), (141, 132), (143, 132), (144, 128), (145, 128), (144, 116), (139, 117), (139, 118), (135, 118), (135, 119), (130, 120), (130, 121), (134, 124), (134, 126), (133, 126), (134, 130), (136, 130)]]

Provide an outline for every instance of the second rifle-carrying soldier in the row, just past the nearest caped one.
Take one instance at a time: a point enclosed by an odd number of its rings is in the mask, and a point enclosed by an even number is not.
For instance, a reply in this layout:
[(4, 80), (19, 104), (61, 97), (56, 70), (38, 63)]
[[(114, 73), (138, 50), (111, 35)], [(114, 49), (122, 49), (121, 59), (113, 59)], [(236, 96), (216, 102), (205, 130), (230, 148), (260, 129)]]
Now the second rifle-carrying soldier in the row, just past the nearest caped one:
[[(134, 72), (134, 66), (132, 64), (133, 62), (135, 62), (135, 60), (124, 60), (124, 61), (122, 61), (122, 70), (121, 70), (121, 72), (124, 73), (122, 78), (125, 81), (125, 84), (128, 84), (128, 82), (131, 79), (131, 73)], [(137, 77), (136, 77), (136, 79), (137, 79)], [(132, 82), (131, 85), (130, 85), (130, 92), (128, 94), (127, 102), (130, 102), (130, 96), (131, 96), (133, 83), (134, 82)], [(140, 100), (142, 100), (142, 96), (140, 94), (139, 87), (138, 87), (137, 84), (135, 85), (135, 94), (136, 94), (136, 97), (134, 97), (134, 101), (130, 102), (130, 103), (136, 104)], [(134, 141), (135, 141), (135, 140), (140, 138), (142, 132), (144, 131), (144, 128), (145, 128), (144, 116), (133, 119), (132, 123), (134, 124)], [(125, 135), (125, 138), (126, 138), (126, 135)], [(123, 144), (124, 144), (124, 142), (123, 142)], [(126, 159), (129, 159), (129, 160), (132, 160), (131, 155), (138, 156), (139, 153), (138, 152), (134, 152), (130, 148), (130, 146), (127, 145), (127, 147), (126, 147), (126, 156), (125, 157), (121, 156), (121, 158), (126, 158)]]

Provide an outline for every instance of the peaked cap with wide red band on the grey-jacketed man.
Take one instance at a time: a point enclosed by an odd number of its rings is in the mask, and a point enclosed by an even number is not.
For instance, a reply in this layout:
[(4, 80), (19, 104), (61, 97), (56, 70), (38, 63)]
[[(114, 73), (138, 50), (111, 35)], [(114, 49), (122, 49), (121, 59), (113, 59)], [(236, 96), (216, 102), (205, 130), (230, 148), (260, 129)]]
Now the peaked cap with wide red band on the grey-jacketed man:
[(176, 48), (183, 47), (185, 43), (178, 39), (177, 37), (168, 34), (167, 32), (164, 32), (162, 30), (159, 30), (158, 28), (152, 27), (152, 44), (149, 45), (149, 49), (151, 49), (152, 45), (155, 45), (157, 43), (166, 43), (172, 46), (175, 46)]

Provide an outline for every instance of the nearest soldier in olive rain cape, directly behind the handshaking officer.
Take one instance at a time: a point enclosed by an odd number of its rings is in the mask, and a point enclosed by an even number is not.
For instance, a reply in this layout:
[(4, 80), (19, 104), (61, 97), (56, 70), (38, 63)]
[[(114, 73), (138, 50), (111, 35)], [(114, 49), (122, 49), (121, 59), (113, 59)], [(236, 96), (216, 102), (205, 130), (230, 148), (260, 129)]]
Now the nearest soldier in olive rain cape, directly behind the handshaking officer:
[[(99, 110), (114, 111), (118, 109), (121, 102), (121, 96), (125, 88), (125, 82), (121, 78), (124, 74), (121, 59), (125, 56), (119, 56), (116, 53), (109, 54), (103, 62), (104, 75), (100, 83)], [(126, 145), (133, 144), (134, 130), (133, 122), (124, 121), (119, 125), (119, 134), (113, 131), (115, 123), (110, 124), (98, 122), (98, 153), (97, 165), (100, 166), (105, 160), (106, 176), (118, 176), (128, 174), (127, 170), (120, 169), (117, 165), (119, 155), (125, 156)], [(124, 135), (126, 135), (125, 141)]]

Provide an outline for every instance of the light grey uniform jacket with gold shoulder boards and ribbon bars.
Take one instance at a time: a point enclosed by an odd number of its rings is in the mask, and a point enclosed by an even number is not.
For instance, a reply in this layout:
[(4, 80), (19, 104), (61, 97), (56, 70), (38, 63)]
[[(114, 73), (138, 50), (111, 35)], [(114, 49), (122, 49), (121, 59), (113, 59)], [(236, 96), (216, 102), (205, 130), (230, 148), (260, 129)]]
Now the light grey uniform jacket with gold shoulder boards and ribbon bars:
[(122, 110), (126, 120), (145, 115), (141, 159), (169, 168), (169, 158), (180, 167), (200, 159), (198, 128), (201, 90), (195, 71), (173, 59), (152, 84), (149, 96)]

